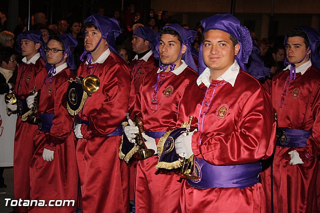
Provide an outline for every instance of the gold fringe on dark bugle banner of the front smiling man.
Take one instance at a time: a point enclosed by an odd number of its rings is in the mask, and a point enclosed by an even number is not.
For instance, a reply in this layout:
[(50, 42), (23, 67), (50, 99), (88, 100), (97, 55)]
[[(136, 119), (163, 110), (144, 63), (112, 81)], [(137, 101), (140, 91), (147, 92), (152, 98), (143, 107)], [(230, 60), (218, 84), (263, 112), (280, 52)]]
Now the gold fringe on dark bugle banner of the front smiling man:
[(163, 146), (164, 143), (166, 141), (166, 139), (169, 137), (170, 133), (172, 131), (166, 132), (162, 135), (162, 137), (159, 139), (158, 144), (157, 144), (157, 148), (158, 148), (158, 163), (155, 166), (155, 169), (166, 169), (166, 170), (171, 170), (171, 169), (177, 169), (180, 168), (182, 166), (182, 160), (179, 159), (177, 161), (174, 161), (172, 163), (168, 163), (168, 162), (159, 162), (160, 160), (160, 156), (162, 155), (162, 151), (163, 151)]

